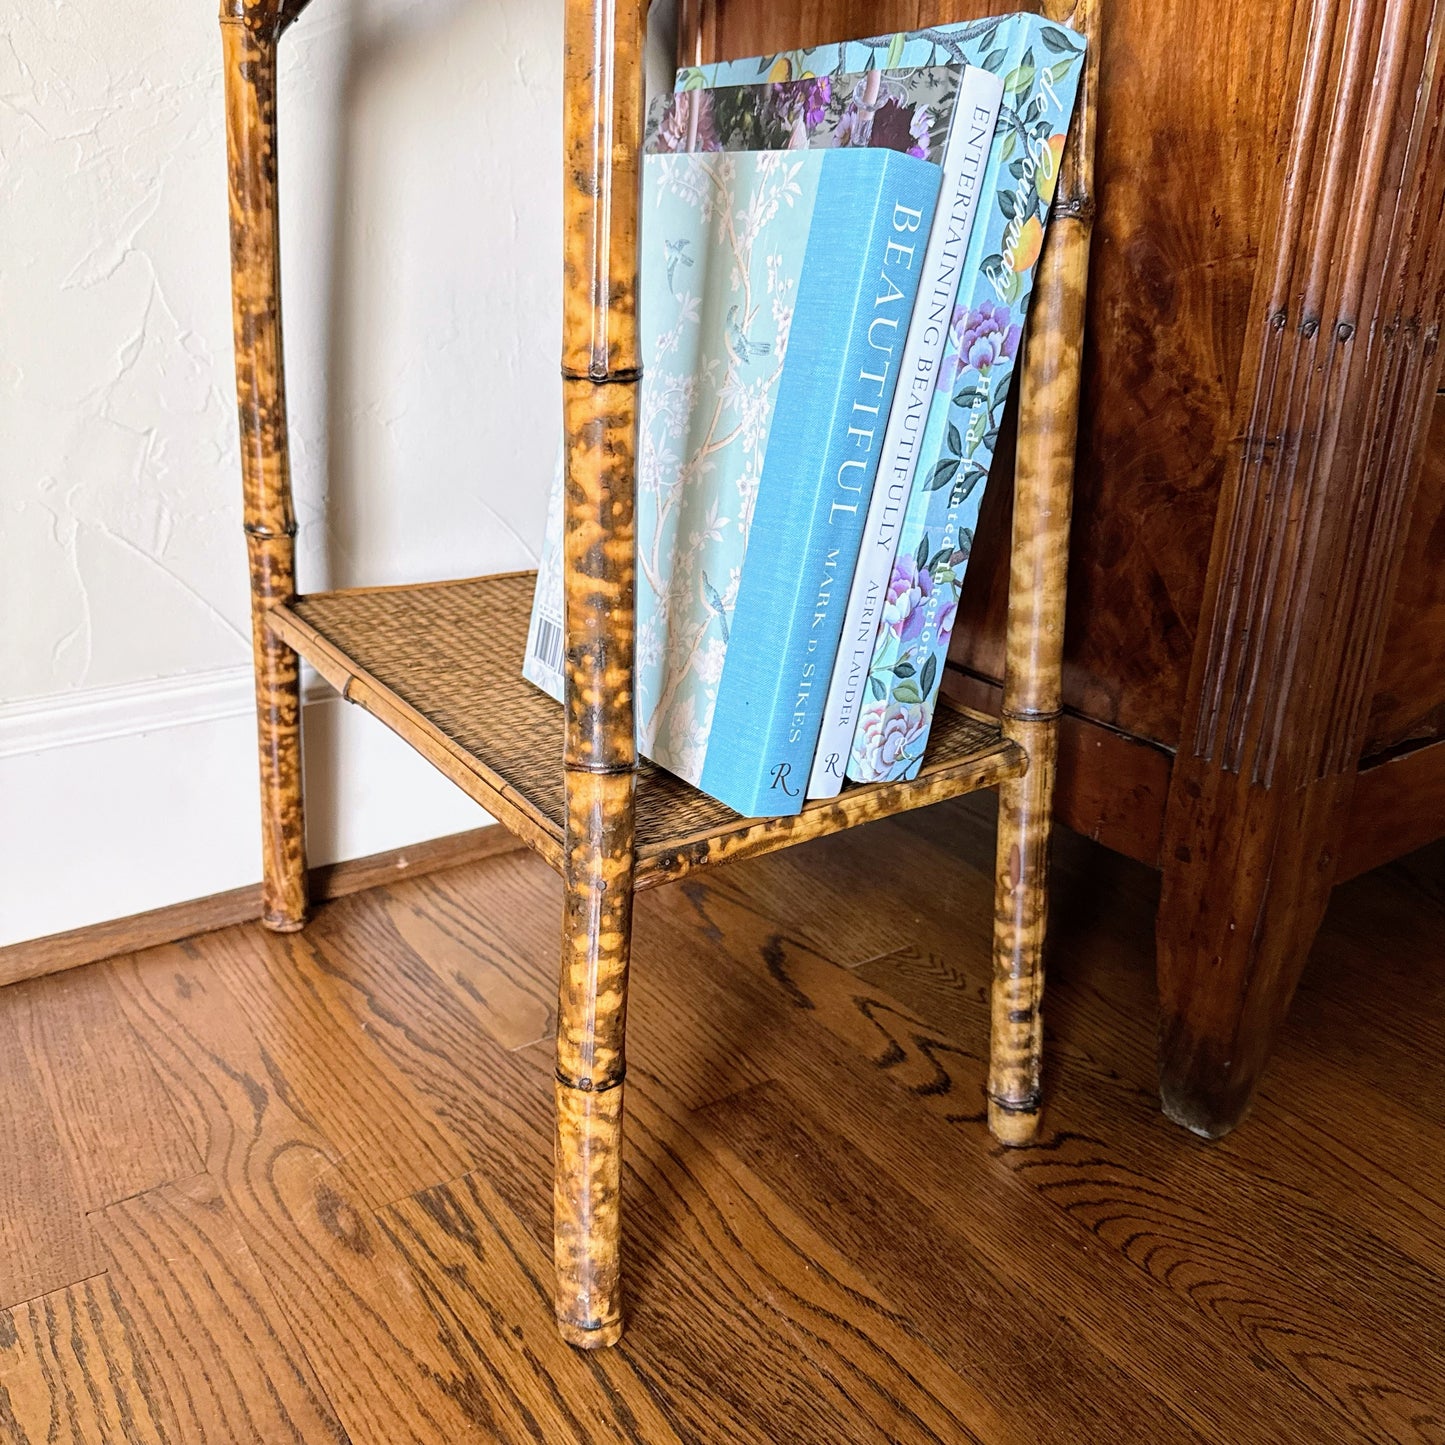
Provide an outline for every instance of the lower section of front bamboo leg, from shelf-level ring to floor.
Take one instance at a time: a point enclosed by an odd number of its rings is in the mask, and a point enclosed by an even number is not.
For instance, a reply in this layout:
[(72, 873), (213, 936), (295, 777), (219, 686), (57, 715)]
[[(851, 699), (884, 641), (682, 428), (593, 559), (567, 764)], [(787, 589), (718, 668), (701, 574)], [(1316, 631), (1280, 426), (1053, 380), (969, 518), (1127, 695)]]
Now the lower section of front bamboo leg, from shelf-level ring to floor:
[(556, 1017), (556, 1318), (568, 1344), (616, 1344), (621, 1318), (623, 1077), (631, 951), (633, 782), (568, 772)]

